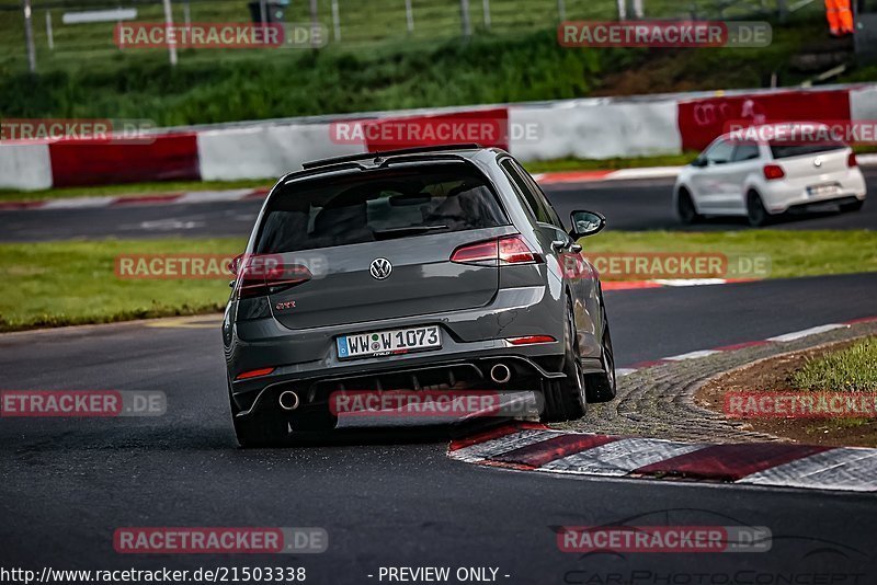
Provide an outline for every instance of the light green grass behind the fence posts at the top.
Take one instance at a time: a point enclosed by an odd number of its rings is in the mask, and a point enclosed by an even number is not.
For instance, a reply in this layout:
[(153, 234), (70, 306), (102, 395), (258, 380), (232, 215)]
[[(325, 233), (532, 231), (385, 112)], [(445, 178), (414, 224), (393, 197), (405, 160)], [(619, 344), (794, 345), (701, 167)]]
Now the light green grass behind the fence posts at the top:
[[(737, 2), (726, 16), (751, 15), (760, 0)], [(767, 2), (770, 8), (776, 7), (776, 0)], [(708, 10), (714, 0), (649, 0), (650, 18), (685, 18), (691, 15), (692, 7), (699, 8), (701, 18), (716, 16)], [(34, 2), (34, 34), (37, 49), (37, 64), (46, 69), (77, 69), (88, 67), (89, 60), (114, 62), (134, 54), (141, 56), (144, 51), (119, 50), (113, 43), (115, 23), (94, 23), (65, 25), (61, 14), (69, 9), (56, 8), (46, 10), (38, 0)], [(71, 4), (70, 4), (71, 5)], [(337, 41), (332, 32), (331, 0), (318, 0), (318, 21), (330, 32), (330, 48), (380, 50), (394, 44), (423, 44), (446, 41), (462, 35), (459, 0), (412, 0), (414, 30), (409, 33), (406, 21), (405, 2), (401, 0), (338, 0), (341, 39)], [(565, 0), (568, 20), (610, 20), (617, 16), (615, 0)], [(4, 7), (13, 10), (0, 11), (0, 66), (24, 68), (26, 64), (24, 44), (22, 43), (23, 20), (21, 9), (12, 2)], [(213, 0), (210, 2), (172, 2), (173, 20), (184, 22), (185, 8), (190, 9), (191, 22), (248, 22), (250, 13), (247, 3), (240, 0)], [(493, 34), (521, 34), (537, 28), (554, 26), (558, 20), (555, 0), (491, 0), (490, 32)], [(160, 3), (138, 3), (139, 22), (163, 22)], [(53, 18), (55, 49), (48, 48), (48, 35), (45, 25), (46, 13)], [(817, 12), (808, 10), (807, 12)], [(482, 3), (474, 0), (469, 3), (469, 19), (476, 35), (483, 35), (486, 21)], [(293, 1), (286, 9), (286, 22), (309, 22), (309, 2)], [(124, 53), (124, 55), (123, 55)], [(158, 49), (146, 51), (167, 59), (166, 51)], [(288, 53), (288, 51), (275, 51)], [(183, 59), (213, 60), (215, 51), (186, 51)], [(253, 58), (253, 50), (229, 50), (224, 57)]]

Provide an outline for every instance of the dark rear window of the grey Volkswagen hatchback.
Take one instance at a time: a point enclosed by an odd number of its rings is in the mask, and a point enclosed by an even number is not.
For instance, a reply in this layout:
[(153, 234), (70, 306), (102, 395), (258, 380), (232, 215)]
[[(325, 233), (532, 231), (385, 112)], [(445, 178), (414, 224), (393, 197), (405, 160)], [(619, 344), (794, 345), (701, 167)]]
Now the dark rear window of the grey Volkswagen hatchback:
[(467, 163), (362, 171), (294, 182), (272, 196), (257, 253), (284, 253), (509, 225)]

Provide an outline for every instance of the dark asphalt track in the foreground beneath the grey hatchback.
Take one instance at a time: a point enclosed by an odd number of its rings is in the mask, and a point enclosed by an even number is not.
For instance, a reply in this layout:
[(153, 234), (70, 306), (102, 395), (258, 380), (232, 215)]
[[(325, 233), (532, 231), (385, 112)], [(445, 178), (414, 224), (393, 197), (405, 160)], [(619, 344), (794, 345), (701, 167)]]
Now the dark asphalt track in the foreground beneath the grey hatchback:
[[(875, 289), (868, 274), (608, 291), (606, 302), (623, 367), (870, 317)], [(877, 582), (875, 495), (448, 460), (448, 437), (477, 427), (354, 428), (330, 444), (238, 449), (217, 324), (155, 324), (0, 336), (4, 388), (168, 397), (156, 418), (0, 418), (0, 566), (304, 566), (307, 582), (329, 584), (388, 583), (381, 566), (431, 565), (497, 567), (499, 583), (515, 584)], [(764, 526), (773, 546), (580, 555), (560, 552), (551, 528), (622, 523)], [(113, 531), (138, 526), (322, 527), (330, 543), (297, 557), (114, 552)]]

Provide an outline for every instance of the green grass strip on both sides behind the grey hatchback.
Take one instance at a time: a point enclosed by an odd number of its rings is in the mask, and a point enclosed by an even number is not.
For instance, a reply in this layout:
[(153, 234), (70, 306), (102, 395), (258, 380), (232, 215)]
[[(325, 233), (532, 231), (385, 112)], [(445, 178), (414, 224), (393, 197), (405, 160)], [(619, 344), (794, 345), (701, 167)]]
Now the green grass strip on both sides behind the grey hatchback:
[[(767, 254), (771, 277), (877, 271), (870, 231), (620, 232), (582, 240), (588, 252)], [(226, 279), (121, 279), (121, 254), (237, 254), (242, 238), (0, 244), (0, 331), (208, 313), (228, 298)]]

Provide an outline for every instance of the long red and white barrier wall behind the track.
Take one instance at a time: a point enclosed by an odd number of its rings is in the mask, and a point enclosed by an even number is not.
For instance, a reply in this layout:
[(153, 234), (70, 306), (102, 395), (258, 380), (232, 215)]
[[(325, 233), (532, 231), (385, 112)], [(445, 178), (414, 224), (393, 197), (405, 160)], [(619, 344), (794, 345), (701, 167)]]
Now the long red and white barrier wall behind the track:
[[(788, 119), (877, 119), (877, 85), (381, 112), (316, 123), (264, 121), (169, 130), (146, 144), (0, 142), (0, 188), (267, 179), (295, 171), (308, 160), (471, 141), (506, 148), (525, 161), (677, 154), (702, 149), (731, 122)], [(459, 135), (457, 130), (467, 123), (490, 130), (489, 136)], [(413, 129), (414, 135), (400, 137), (400, 127)], [(351, 139), (355, 128), (368, 131)], [(447, 128), (453, 131), (443, 138), (441, 133)]]

